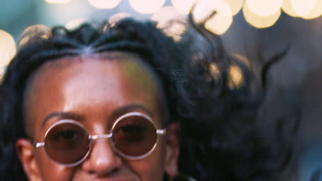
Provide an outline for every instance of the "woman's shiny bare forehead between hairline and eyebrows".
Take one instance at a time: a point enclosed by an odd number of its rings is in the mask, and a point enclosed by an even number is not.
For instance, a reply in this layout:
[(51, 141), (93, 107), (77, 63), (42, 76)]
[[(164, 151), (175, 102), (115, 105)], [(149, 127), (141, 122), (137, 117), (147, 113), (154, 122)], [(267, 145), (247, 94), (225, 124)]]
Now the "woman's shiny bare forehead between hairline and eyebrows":
[(109, 112), (128, 103), (157, 112), (161, 92), (153, 70), (138, 56), (111, 53), (66, 57), (47, 62), (30, 78), (25, 91), (25, 118), (42, 120), (52, 111), (85, 107), (100, 114), (102, 110), (97, 108)]

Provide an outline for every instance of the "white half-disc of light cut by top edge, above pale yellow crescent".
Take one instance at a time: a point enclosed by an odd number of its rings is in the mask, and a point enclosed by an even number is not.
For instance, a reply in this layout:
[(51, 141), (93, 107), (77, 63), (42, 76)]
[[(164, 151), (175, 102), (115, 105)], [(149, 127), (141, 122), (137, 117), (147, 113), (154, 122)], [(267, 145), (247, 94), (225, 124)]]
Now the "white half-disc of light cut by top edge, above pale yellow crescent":
[(245, 4), (257, 16), (271, 16), (281, 9), (283, 0), (246, 0)]

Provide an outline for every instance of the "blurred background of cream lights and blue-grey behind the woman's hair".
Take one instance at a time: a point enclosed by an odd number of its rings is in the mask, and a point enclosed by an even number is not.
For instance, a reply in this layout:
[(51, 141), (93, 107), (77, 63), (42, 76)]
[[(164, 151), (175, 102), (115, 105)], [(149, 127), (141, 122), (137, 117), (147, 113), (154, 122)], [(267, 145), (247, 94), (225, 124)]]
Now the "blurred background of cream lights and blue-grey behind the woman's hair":
[(281, 180), (321, 181), (322, 0), (0, 0), (0, 74), (33, 26), (73, 29), (125, 16), (162, 23), (186, 16), (195, 1), (196, 21), (216, 10), (206, 27), (230, 53), (252, 62), (259, 83), (265, 65), (284, 52), (268, 71), (258, 128), (294, 151)]

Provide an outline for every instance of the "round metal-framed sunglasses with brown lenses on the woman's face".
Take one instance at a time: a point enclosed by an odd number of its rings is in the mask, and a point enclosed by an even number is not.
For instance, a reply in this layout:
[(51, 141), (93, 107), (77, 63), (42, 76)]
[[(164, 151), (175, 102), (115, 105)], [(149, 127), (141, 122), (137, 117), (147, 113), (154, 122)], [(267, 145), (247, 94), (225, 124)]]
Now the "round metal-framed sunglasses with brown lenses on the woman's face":
[(158, 135), (166, 130), (158, 130), (151, 117), (140, 112), (129, 112), (116, 119), (109, 134), (90, 135), (85, 126), (78, 121), (63, 119), (54, 123), (45, 133), (41, 143), (47, 156), (54, 162), (73, 167), (89, 155), (92, 142), (100, 138), (110, 138), (111, 146), (120, 156), (142, 159), (155, 149)]

